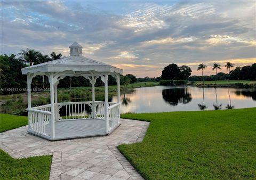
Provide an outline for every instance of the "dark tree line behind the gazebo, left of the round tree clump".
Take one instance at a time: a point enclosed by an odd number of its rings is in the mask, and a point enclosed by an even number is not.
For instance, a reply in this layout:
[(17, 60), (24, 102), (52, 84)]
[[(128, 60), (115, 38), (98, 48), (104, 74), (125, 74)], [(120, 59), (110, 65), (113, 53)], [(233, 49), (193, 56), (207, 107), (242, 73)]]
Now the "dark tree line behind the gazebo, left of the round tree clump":
[[(18, 53), (19, 57), (12, 54), (10, 56), (3, 54), (0, 55), (0, 87), (1, 94), (15, 94), (26, 92), (27, 88), (27, 76), (22, 75), (21, 69), (33, 66), (35, 64), (57, 60), (61, 58), (61, 54), (56, 54), (52, 52), (50, 55), (43, 55), (42, 53), (27, 49), (21, 50)], [(141, 81), (159, 81), (161, 78), (137, 78), (132, 74), (127, 74), (120, 77), (120, 84), (130, 84)], [(103, 86), (101, 79), (98, 78), (95, 86)], [(108, 85), (116, 85), (116, 80), (114, 77), (108, 77)], [(80, 86), (91, 86), (88, 79), (84, 77), (65, 77), (60, 80), (58, 85), (59, 88), (68, 88), (68, 87), (80, 87)], [(49, 88), (50, 84), (47, 76), (36, 76), (33, 78), (31, 88), (38, 89), (38, 91), (43, 91), (45, 88)]]

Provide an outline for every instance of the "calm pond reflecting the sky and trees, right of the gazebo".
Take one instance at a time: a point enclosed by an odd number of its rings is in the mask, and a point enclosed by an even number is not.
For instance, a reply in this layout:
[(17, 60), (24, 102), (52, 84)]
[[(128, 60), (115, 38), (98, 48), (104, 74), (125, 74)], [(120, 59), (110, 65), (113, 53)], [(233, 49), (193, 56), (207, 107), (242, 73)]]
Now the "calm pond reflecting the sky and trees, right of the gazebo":
[(256, 107), (256, 88), (143, 87), (121, 95), (121, 103), (121, 113), (250, 108)]

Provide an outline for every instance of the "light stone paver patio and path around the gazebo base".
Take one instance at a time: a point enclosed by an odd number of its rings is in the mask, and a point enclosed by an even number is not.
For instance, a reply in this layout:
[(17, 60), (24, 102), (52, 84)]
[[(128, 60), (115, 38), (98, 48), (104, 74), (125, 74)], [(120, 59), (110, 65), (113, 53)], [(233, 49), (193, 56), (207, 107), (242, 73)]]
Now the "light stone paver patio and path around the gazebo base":
[(1, 149), (13, 158), (53, 154), (50, 179), (143, 179), (117, 150), (141, 142), (149, 122), (121, 119), (110, 135), (47, 141), (27, 133), (27, 126), (1, 133)]

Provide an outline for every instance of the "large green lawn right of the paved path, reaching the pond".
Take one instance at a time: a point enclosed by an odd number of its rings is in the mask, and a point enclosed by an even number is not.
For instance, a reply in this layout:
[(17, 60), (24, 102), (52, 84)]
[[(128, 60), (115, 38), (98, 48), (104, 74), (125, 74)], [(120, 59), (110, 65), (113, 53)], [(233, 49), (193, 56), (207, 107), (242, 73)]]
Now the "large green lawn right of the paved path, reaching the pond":
[(150, 121), (118, 149), (145, 179), (256, 179), (256, 108), (122, 114)]

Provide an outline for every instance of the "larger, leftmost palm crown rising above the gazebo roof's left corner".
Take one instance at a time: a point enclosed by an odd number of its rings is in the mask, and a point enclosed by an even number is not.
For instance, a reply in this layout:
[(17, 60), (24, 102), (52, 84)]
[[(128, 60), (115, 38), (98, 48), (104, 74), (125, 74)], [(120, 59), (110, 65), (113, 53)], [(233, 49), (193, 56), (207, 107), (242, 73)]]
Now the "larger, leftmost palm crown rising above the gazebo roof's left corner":
[(34, 62), (40, 61), (42, 54), (39, 51), (27, 48), (27, 50), (20, 50), (21, 52), (17, 55), (20, 55), (19, 59), (24, 62), (28, 62), (29, 66), (32, 66)]

